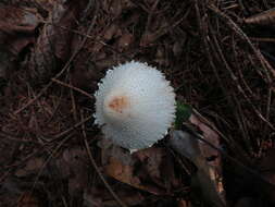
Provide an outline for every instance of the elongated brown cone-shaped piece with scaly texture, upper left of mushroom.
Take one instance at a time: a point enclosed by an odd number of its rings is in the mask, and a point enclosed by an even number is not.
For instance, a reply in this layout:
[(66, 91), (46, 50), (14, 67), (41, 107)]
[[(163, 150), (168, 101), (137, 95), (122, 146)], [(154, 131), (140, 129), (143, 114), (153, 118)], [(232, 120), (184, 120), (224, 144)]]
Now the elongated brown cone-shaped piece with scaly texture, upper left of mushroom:
[[(33, 78), (49, 78), (57, 66), (64, 63), (79, 38), (71, 29), (75, 29), (86, 1), (55, 1), (52, 11), (40, 31), (39, 37), (32, 50), (28, 68)], [(77, 42), (75, 42), (77, 41)]]

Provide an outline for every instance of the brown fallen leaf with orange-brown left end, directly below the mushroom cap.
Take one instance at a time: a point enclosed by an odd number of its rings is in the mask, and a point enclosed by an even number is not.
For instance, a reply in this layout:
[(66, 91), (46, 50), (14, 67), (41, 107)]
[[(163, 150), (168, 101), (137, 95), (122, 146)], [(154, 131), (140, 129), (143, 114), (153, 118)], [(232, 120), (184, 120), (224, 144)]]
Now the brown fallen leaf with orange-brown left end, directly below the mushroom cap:
[(104, 167), (108, 175), (154, 195), (172, 195), (180, 181), (174, 173), (173, 159), (163, 148), (151, 147), (135, 153), (128, 165), (114, 156)]

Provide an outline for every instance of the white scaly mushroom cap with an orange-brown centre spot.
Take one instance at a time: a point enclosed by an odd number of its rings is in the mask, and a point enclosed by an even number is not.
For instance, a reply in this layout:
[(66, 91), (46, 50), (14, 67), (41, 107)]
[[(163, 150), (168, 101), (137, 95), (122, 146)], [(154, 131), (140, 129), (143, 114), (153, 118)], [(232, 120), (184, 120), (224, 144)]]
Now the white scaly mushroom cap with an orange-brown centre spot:
[(175, 94), (163, 74), (141, 62), (114, 66), (96, 93), (96, 123), (132, 151), (161, 139), (175, 119)]

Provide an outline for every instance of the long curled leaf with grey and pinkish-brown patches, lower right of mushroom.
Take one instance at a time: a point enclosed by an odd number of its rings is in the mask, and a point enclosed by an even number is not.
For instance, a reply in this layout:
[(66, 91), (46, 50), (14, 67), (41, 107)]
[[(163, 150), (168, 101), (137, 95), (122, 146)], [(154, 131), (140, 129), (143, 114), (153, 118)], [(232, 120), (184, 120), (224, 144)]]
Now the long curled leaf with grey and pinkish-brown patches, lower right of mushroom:
[[(193, 134), (184, 131), (172, 131), (170, 145), (174, 150), (187, 157), (197, 167), (192, 175), (192, 186), (200, 188), (204, 200), (212, 206), (222, 207), (225, 205), (225, 191), (222, 176), (221, 155), (216, 149), (195, 137), (201, 137), (220, 148), (220, 136), (204, 120), (193, 112), (187, 121), (193, 127)], [(188, 126), (188, 125), (187, 125)], [(195, 130), (196, 129), (196, 130)]]

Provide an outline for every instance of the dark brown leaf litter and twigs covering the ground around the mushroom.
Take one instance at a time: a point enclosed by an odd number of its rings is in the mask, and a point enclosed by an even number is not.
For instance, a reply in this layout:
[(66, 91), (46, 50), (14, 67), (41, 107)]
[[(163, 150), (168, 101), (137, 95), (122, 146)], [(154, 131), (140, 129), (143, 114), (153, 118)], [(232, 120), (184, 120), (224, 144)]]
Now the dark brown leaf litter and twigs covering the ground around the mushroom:
[[(0, 3), (0, 206), (273, 206), (274, 8)], [(176, 130), (133, 155), (103, 141), (85, 95), (132, 59), (158, 66), (202, 114), (182, 110)]]

